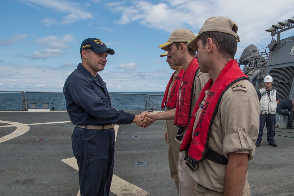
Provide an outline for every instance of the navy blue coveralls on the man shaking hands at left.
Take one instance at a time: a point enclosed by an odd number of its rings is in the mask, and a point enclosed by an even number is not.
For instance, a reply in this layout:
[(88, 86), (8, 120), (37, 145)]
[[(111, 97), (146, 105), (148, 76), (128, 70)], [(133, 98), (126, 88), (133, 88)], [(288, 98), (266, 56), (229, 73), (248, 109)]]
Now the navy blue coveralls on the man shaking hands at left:
[[(134, 114), (111, 107), (106, 83), (80, 63), (64, 84), (66, 109), (74, 125), (130, 124)], [(80, 193), (108, 196), (114, 163), (114, 129), (74, 127), (72, 149), (78, 163)]]

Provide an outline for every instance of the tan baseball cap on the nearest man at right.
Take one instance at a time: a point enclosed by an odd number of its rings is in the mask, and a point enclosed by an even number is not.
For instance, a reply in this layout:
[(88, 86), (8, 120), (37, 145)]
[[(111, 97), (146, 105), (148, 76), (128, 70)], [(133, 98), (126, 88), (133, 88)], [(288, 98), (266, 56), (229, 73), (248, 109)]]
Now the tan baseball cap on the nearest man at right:
[[(234, 32), (233, 29), (235, 29), (236, 32)], [(240, 41), (240, 37), (237, 35), (238, 26), (234, 21), (224, 16), (213, 16), (208, 18), (205, 21), (205, 23), (199, 30), (197, 36), (195, 36), (191, 41), (189, 41), (187, 46), (192, 48), (195, 51), (198, 51), (196, 42), (198, 41), (199, 36), (204, 32), (210, 32), (210, 31), (218, 31), (218, 32), (231, 34), (237, 39), (237, 42)]]

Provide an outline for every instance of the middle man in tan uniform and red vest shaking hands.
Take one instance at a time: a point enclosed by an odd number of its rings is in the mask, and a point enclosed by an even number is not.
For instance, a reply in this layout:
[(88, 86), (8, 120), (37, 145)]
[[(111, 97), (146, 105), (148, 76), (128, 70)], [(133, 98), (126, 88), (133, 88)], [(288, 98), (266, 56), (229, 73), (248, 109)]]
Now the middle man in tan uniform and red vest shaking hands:
[[(168, 41), (158, 46), (159, 48), (168, 51), (171, 55), (173, 63), (176, 66), (182, 66), (185, 73), (182, 77), (181, 87), (178, 93), (178, 103), (176, 109), (171, 109), (167, 112), (160, 112), (152, 114), (153, 120), (168, 120), (175, 119), (175, 124), (181, 129), (181, 136), (176, 137), (179, 144), (186, 133), (189, 119), (196, 104), (196, 100), (209, 79), (208, 74), (202, 73), (198, 68), (197, 59), (195, 58), (195, 51), (188, 48), (186, 44), (193, 39), (195, 34), (188, 29), (176, 29), (173, 31)], [(187, 85), (189, 84), (189, 85)], [(178, 111), (177, 111), (178, 109)], [(180, 111), (181, 110), (181, 111)], [(148, 114), (143, 114), (147, 115)], [(187, 120), (186, 124), (184, 121)], [(193, 195), (193, 180), (189, 177), (189, 168), (184, 163), (184, 152), (179, 154), (178, 162), (178, 178), (179, 178), (179, 195), (190, 196)]]

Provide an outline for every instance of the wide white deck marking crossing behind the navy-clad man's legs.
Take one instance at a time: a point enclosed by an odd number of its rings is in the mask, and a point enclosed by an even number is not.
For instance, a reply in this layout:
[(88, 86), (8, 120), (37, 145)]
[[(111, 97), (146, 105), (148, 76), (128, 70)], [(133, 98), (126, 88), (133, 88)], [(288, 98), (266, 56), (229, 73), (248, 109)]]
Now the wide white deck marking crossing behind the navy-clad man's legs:
[[(115, 132), (115, 140), (116, 140), (116, 135), (118, 131), (119, 125), (114, 126), (114, 132)], [(73, 167), (74, 169), (78, 170), (78, 165), (76, 162), (75, 157), (71, 157), (68, 159), (62, 159), (64, 163), (67, 165)], [(126, 180), (121, 179), (120, 177), (113, 175), (112, 176), (112, 183), (110, 187), (110, 191), (116, 194), (117, 196), (145, 196), (148, 195), (149, 192), (141, 189), (140, 187), (137, 187), (136, 185), (131, 184), (130, 182), (127, 182)], [(80, 190), (78, 190), (77, 196), (80, 196)]]

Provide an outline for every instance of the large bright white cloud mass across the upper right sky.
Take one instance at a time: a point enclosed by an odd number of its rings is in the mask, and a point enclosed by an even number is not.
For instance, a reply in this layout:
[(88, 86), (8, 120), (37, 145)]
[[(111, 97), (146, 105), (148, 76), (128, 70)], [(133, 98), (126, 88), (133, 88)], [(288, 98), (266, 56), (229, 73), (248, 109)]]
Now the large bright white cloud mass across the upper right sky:
[[(150, 1), (127, 1), (120, 4), (106, 4), (111, 11), (120, 13), (116, 24), (126, 25), (138, 22), (141, 25), (162, 29), (171, 33), (178, 28), (187, 28), (198, 33), (207, 18), (226, 16), (238, 25), (241, 41), (235, 58), (239, 58), (243, 49), (250, 44), (265, 48), (271, 41), (266, 32), (272, 24), (293, 17), (294, 1), (280, 0), (165, 0), (164, 3), (153, 4)], [(274, 8), (273, 8), (273, 5)], [(287, 5), (287, 9), (285, 9)], [(283, 10), (283, 11), (281, 11)], [(282, 13), (282, 14), (279, 14)], [(287, 36), (288, 32), (283, 36)], [(289, 34), (288, 34), (289, 35)], [(290, 36), (290, 35), (289, 35)], [(258, 44), (263, 45), (258, 45)]]

